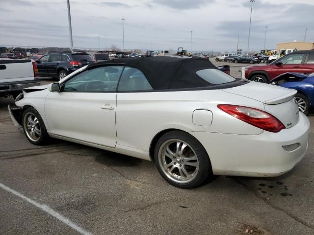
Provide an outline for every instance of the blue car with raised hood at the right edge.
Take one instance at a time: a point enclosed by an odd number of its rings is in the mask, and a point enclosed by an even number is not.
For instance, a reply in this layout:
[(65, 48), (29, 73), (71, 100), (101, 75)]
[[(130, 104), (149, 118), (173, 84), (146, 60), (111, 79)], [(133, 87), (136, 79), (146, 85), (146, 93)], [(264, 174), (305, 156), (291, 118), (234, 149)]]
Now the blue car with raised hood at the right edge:
[(314, 72), (309, 75), (287, 72), (274, 78), (270, 83), (297, 90), (296, 101), (300, 112), (305, 115), (309, 115), (314, 109)]

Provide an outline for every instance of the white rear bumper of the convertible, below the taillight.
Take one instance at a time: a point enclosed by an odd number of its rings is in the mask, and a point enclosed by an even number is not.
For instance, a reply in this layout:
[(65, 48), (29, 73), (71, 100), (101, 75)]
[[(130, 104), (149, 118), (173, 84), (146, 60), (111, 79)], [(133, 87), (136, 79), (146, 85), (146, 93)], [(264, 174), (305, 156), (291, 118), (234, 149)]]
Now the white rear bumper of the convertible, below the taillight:
[[(309, 119), (300, 114), (299, 122), (279, 133), (234, 135), (191, 132), (209, 154), (214, 174), (274, 177), (288, 172), (301, 161), (308, 149)], [(299, 144), (292, 151), (283, 146)], [(287, 149), (287, 147), (286, 147)]]

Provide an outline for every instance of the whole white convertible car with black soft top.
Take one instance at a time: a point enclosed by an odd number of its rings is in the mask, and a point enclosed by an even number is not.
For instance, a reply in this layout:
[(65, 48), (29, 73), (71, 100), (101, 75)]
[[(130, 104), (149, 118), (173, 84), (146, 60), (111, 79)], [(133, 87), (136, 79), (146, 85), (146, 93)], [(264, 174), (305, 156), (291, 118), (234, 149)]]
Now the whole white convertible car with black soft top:
[(206, 59), (115, 59), (27, 88), (9, 106), (26, 138), (73, 141), (155, 161), (170, 184), (213, 174), (272, 177), (308, 148), (295, 90), (235, 79)]

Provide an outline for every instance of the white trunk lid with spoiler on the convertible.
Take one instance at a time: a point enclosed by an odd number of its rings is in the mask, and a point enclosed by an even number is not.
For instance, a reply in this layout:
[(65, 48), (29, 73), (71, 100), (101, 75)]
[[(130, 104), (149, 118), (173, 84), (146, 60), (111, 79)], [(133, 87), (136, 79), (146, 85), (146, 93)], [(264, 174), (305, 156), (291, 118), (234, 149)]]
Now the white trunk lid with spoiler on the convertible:
[(255, 99), (264, 104), (284, 103), (297, 93), (296, 90), (252, 81), (242, 86), (222, 89), (222, 91)]

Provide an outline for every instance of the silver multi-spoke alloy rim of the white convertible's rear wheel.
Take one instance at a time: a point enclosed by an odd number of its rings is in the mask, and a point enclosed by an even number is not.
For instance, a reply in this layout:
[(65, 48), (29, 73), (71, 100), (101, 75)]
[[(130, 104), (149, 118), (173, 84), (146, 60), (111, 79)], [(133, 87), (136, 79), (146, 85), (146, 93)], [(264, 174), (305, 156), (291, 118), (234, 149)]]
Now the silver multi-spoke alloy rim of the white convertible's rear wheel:
[(192, 181), (199, 170), (195, 151), (182, 140), (165, 141), (159, 148), (158, 161), (163, 173), (176, 183), (185, 184)]

